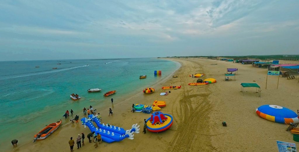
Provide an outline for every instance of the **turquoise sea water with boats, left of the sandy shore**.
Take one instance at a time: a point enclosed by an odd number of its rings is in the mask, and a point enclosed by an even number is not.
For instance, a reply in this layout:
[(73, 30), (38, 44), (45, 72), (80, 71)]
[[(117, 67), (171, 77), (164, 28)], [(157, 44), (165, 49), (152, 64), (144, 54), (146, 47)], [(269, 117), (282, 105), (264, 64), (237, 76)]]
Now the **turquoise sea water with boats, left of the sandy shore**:
[[(66, 110), (83, 115), (83, 108), (89, 105), (111, 105), (111, 97), (116, 104), (180, 67), (177, 62), (149, 58), (0, 63), (0, 147), (4, 149), (12, 147), (13, 139), (20, 145), (30, 142), (45, 125), (64, 120)], [(154, 70), (162, 70), (162, 75), (154, 76)], [(147, 78), (139, 79), (140, 75)], [(103, 90), (88, 93), (90, 88)], [(110, 90), (117, 92), (103, 97)], [(77, 93), (80, 101), (72, 101), (71, 93)]]

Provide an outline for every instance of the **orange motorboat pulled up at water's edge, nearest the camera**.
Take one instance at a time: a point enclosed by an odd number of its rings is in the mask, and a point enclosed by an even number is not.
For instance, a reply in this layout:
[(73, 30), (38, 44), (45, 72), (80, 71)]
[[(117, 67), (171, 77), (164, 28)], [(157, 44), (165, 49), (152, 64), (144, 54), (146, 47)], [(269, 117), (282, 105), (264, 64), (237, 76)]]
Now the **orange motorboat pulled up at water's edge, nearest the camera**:
[(60, 126), (61, 122), (62, 122), (62, 120), (60, 119), (59, 121), (57, 121), (55, 123), (51, 123), (50, 125), (47, 125), (45, 128), (43, 128), (36, 135), (33, 136), (33, 138), (34, 138), (33, 142), (35, 142), (36, 140), (39, 140), (39, 139), (47, 138), (49, 135), (51, 135), (51, 133), (53, 133), (55, 130), (57, 130), (57, 128)]

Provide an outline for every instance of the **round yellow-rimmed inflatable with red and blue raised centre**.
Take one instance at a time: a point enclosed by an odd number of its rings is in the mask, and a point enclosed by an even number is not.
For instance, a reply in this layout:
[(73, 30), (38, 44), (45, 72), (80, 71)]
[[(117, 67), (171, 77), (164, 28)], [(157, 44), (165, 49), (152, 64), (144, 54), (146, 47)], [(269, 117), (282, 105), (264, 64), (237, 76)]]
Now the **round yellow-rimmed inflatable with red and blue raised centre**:
[(156, 111), (147, 120), (147, 130), (151, 132), (161, 132), (170, 128), (173, 124), (173, 117)]

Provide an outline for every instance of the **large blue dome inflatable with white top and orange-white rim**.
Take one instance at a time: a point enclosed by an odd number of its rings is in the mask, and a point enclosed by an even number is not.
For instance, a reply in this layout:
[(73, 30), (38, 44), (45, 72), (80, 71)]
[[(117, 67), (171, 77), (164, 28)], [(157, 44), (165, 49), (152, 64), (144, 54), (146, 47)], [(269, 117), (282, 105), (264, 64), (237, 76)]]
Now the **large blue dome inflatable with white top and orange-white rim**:
[(258, 116), (278, 123), (299, 123), (298, 115), (294, 111), (280, 107), (278, 105), (262, 105), (257, 108), (256, 113)]

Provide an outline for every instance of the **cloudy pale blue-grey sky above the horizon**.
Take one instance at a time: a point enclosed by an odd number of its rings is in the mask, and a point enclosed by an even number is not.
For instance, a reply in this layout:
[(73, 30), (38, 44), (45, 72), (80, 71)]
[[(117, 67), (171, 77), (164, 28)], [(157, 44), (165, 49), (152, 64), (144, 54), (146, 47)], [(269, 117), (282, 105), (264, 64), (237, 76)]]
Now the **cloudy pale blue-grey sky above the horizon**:
[(298, 0), (1, 0), (0, 61), (299, 54)]

